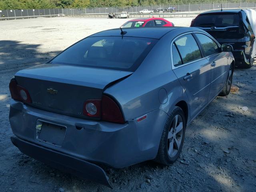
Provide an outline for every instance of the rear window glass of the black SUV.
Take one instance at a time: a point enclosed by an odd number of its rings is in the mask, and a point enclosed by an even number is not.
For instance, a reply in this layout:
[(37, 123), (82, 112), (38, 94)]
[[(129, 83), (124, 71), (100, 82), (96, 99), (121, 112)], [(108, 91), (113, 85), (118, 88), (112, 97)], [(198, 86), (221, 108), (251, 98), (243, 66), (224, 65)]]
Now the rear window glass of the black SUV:
[(234, 13), (228, 14), (208, 14), (200, 15), (192, 24), (192, 27), (229, 27), (239, 26), (239, 15)]

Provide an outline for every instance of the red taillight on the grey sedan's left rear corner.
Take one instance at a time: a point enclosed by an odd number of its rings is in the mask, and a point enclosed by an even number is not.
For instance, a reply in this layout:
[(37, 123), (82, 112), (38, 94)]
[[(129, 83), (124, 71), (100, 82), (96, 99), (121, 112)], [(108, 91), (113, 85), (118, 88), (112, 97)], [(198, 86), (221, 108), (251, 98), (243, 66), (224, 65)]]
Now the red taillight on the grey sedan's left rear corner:
[(11, 97), (14, 100), (22, 101), (25, 103), (32, 103), (28, 90), (17, 84), (15, 79), (12, 79), (9, 84)]

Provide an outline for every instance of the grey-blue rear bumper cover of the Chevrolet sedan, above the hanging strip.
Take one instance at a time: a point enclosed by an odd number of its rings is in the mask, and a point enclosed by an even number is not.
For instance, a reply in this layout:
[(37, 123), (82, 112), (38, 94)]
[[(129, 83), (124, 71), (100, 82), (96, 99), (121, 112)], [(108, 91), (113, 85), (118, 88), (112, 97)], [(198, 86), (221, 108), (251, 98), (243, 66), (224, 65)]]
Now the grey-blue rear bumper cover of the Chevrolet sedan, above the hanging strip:
[[(11, 100), (9, 115), (12, 132), (18, 138), (54, 152), (114, 168), (154, 159), (167, 118), (162, 110), (154, 110), (141, 122), (136, 119), (125, 124), (97, 122), (40, 110), (15, 100)], [(66, 130), (64, 137), (55, 130), (45, 130), (53, 139), (38, 138), (38, 121), (61, 125)], [(53, 141), (55, 139), (57, 142)]]

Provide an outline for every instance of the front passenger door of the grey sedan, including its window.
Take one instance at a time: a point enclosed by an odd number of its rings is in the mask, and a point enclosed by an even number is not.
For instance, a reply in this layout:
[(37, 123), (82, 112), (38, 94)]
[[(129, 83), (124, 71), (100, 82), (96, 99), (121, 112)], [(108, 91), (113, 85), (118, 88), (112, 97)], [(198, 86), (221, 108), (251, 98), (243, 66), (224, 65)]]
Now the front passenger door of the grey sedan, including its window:
[(218, 95), (226, 82), (228, 59), (225, 52), (220, 51), (219, 45), (210, 36), (195, 33), (201, 44), (204, 56), (209, 60), (212, 69), (209, 100)]

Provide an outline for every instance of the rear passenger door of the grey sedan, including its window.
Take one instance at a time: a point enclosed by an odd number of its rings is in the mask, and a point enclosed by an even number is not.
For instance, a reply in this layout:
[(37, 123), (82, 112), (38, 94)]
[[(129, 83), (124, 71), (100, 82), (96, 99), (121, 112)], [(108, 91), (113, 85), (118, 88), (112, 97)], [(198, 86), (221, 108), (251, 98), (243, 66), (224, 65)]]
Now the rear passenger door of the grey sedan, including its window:
[(193, 118), (208, 104), (211, 68), (192, 33), (178, 36), (172, 42), (172, 70), (189, 98)]

